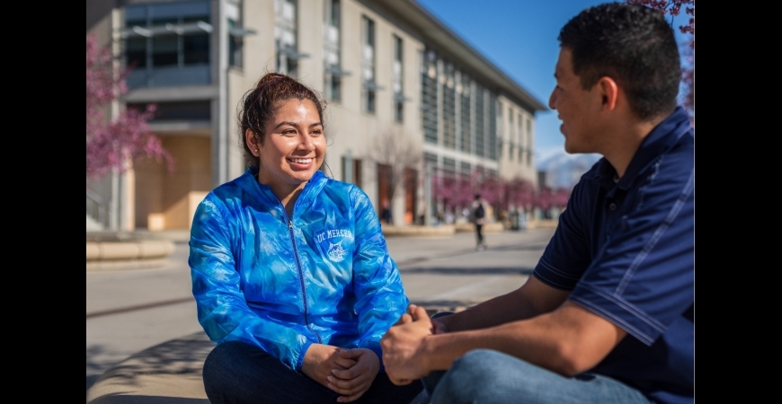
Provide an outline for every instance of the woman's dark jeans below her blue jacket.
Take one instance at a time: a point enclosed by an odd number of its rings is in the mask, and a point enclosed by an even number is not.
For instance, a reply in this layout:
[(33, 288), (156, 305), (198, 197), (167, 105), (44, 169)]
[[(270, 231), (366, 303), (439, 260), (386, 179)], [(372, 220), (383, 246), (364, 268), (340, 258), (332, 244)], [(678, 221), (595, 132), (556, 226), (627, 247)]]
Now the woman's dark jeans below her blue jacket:
[[(218, 403), (333, 403), (340, 396), (282, 364), (260, 347), (231, 341), (218, 345), (204, 363), (204, 389)], [(378, 373), (372, 387), (355, 403), (409, 403), (421, 382), (395, 386)]]

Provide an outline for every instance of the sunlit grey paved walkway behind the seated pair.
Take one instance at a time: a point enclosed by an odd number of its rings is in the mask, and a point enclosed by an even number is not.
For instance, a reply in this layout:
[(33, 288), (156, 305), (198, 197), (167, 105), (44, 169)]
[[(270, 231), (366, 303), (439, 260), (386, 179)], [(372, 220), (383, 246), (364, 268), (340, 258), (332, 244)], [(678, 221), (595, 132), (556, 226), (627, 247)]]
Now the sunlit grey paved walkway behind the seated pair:
[[(489, 249), (483, 251), (475, 250), (475, 237), (470, 233), (446, 238), (388, 238), (387, 243), (400, 268), (405, 292), (413, 303), (428, 309), (460, 310), (522, 285), (552, 234), (552, 229), (489, 233), (485, 235)], [(147, 347), (176, 338), (191, 340), (199, 349), (209, 347), (196, 320), (187, 266), (188, 249), (179, 240), (180, 236), (172, 235), (175, 250), (162, 268), (87, 272), (88, 389), (98, 375)], [(172, 355), (178, 354), (172, 352)], [(120, 367), (127, 372), (154, 362), (147, 352)], [(183, 380), (171, 373), (187, 368), (188, 365), (182, 365), (185, 362), (177, 357), (166, 361), (164, 369), (169, 375), (153, 374), (147, 377), (147, 384), (163, 382), (166, 377)], [(176, 366), (180, 366), (179, 370)], [(197, 381), (200, 376), (193, 373), (190, 377)], [(189, 383), (198, 386), (198, 382)], [(184, 398), (188, 390), (177, 390), (175, 386), (181, 385), (163, 382), (163, 387), (158, 386), (156, 390), (156, 397)], [(105, 390), (105, 383), (102, 388)], [(124, 388), (128, 390), (127, 386)]]

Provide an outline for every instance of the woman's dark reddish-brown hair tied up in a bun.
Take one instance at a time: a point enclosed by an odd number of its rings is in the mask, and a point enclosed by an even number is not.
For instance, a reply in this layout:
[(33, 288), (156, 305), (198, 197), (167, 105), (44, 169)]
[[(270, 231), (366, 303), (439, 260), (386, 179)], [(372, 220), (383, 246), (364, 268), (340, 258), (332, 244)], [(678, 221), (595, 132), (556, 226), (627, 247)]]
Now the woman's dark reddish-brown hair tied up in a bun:
[(242, 145), (244, 145), (244, 162), (248, 167), (256, 165), (258, 157), (255, 157), (250, 152), (250, 147), (247, 145), (247, 137), (244, 134), (247, 130), (250, 130), (258, 143), (263, 145), (263, 140), (266, 137), (263, 130), (266, 124), (280, 109), (282, 102), (287, 100), (312, 101), (317, 109), (318, 118), (320, 118), (322, 124), (324, 123), (323, 111), (325, 102), (321, 101), (314, 91), (287, 75), (277, 73), (264, 75), (253, 90), (244, 94), (242, 108), (239, 110), (237, 117), (241, 130)]

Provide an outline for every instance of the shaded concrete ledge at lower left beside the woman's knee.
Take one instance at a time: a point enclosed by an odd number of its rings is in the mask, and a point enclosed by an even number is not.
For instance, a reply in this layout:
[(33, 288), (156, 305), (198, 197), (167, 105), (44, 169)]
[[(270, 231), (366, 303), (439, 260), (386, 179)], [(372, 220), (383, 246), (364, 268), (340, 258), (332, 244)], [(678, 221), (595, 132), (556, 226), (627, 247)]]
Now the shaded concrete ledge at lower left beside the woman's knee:
[(215, 344), (198, 332), (139, 352), (103, 373), (88, 404), (209, 404), (201, 378)]

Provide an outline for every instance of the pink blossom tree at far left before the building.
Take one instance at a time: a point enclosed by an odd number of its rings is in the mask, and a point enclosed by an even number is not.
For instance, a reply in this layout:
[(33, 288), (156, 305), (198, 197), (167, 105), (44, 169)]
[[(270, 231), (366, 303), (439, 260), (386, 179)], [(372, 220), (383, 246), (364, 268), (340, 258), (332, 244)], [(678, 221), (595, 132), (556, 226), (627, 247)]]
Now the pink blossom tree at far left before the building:
[(165, 161), (173, 170), (171, 155), (147, 126), (154, 105), (143, 111), (121, 110), (113, 119), (107, 116), (111, 102), (128, 90), (128, 73), (114, 67), (111, 48), (99, 47), (94, 35), (87, 35), (87, 177), (125, 171), (126, 162), (142, 158)]

